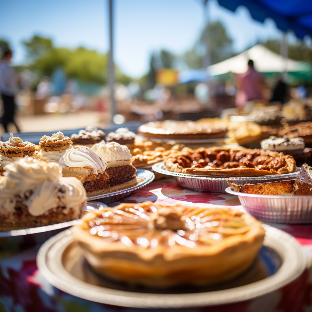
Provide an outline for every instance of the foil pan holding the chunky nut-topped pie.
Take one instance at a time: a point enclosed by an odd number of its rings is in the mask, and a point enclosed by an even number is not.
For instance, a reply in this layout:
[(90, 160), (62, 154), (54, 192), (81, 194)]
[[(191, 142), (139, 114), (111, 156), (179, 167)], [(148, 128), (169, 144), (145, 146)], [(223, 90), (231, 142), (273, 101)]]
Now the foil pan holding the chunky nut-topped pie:
[[(177, 183), (183, 188), (189, 188), (199, 192), (225, 192), (228, 188), (227, 179), (229, 178), (212, 178), (212, 177), (201, 177), (192, 174), (177, 173), (168, 171), (165, 164), (162, 162), (155, 163), (152, 167), (155, 172), (172, 176), (175, 178)], [(241, 177), (232, 178), (233, 183), (237, 184), (256, 184), (264, 182), (275, 182), (275, 181), (286, 181), (294, 180), (300, 172), (300, 167), (296, 167), (296, 171), (287, 174), (274, 174), (263, 177)]]

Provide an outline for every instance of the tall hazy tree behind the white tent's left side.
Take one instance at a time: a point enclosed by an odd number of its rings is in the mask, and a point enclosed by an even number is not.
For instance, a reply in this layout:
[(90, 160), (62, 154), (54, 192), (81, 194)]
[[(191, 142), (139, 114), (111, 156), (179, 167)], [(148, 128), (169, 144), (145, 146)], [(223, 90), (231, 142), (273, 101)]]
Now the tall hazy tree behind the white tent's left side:
[(184, 53), (183, 59), (189, 68), (202, 68), (202, 57), (205, 53), (205, 38), (209, 27), (211, 64), (226, 60), (233, 56), (232, 38), (227, 34), (222, 22), (209, 23), (203, 30), (193, 48)]

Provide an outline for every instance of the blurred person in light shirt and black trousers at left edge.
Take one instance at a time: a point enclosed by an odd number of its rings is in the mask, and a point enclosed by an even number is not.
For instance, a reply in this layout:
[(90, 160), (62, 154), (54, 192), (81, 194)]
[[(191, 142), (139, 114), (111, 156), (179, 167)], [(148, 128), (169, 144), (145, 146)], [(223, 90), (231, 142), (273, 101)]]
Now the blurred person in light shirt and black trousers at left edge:
[(11, 59), (12, 51), (10, 49), (4, 50), (0, 61), (0, 94), (4, 109), (1, 123), (5, 132), (7, 132), (7, 125), (9, 122), (12, 122), (15, 125), (17, 132), (20, 132), (17, 124), (14, 122), (14, 95), (17, 92), (17, 79), (12, 67), (9, 66)]

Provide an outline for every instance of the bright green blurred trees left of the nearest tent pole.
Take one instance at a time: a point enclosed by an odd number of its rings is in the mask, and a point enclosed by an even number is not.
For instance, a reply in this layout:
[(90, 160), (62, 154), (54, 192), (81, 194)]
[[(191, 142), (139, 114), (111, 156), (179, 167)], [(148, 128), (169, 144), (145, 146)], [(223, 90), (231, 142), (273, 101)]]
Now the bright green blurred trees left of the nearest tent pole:
[[(99, 53), (84, 47), (68, 49), (55, 47), (49, 38), (33, 36), (23, 42), (27, 50), (27, 67), (37, 76), (51, 76), (57, 68), (63, 68), (68, 77), (85, 82), (104, 84), (107, 80), (107, 53)], [(132, 79), (115, 66), (116, 80), (129, 83)]]

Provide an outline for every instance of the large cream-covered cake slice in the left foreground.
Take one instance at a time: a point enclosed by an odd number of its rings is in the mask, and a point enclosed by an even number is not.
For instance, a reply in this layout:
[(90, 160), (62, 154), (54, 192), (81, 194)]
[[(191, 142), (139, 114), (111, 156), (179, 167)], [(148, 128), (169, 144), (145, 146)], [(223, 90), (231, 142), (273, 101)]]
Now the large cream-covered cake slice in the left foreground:
[(40, 227), (76, 220), (86, 193), (76, 178), (62, 177), (57, 163), (25, 157), (0, 177), (0, 230)]

